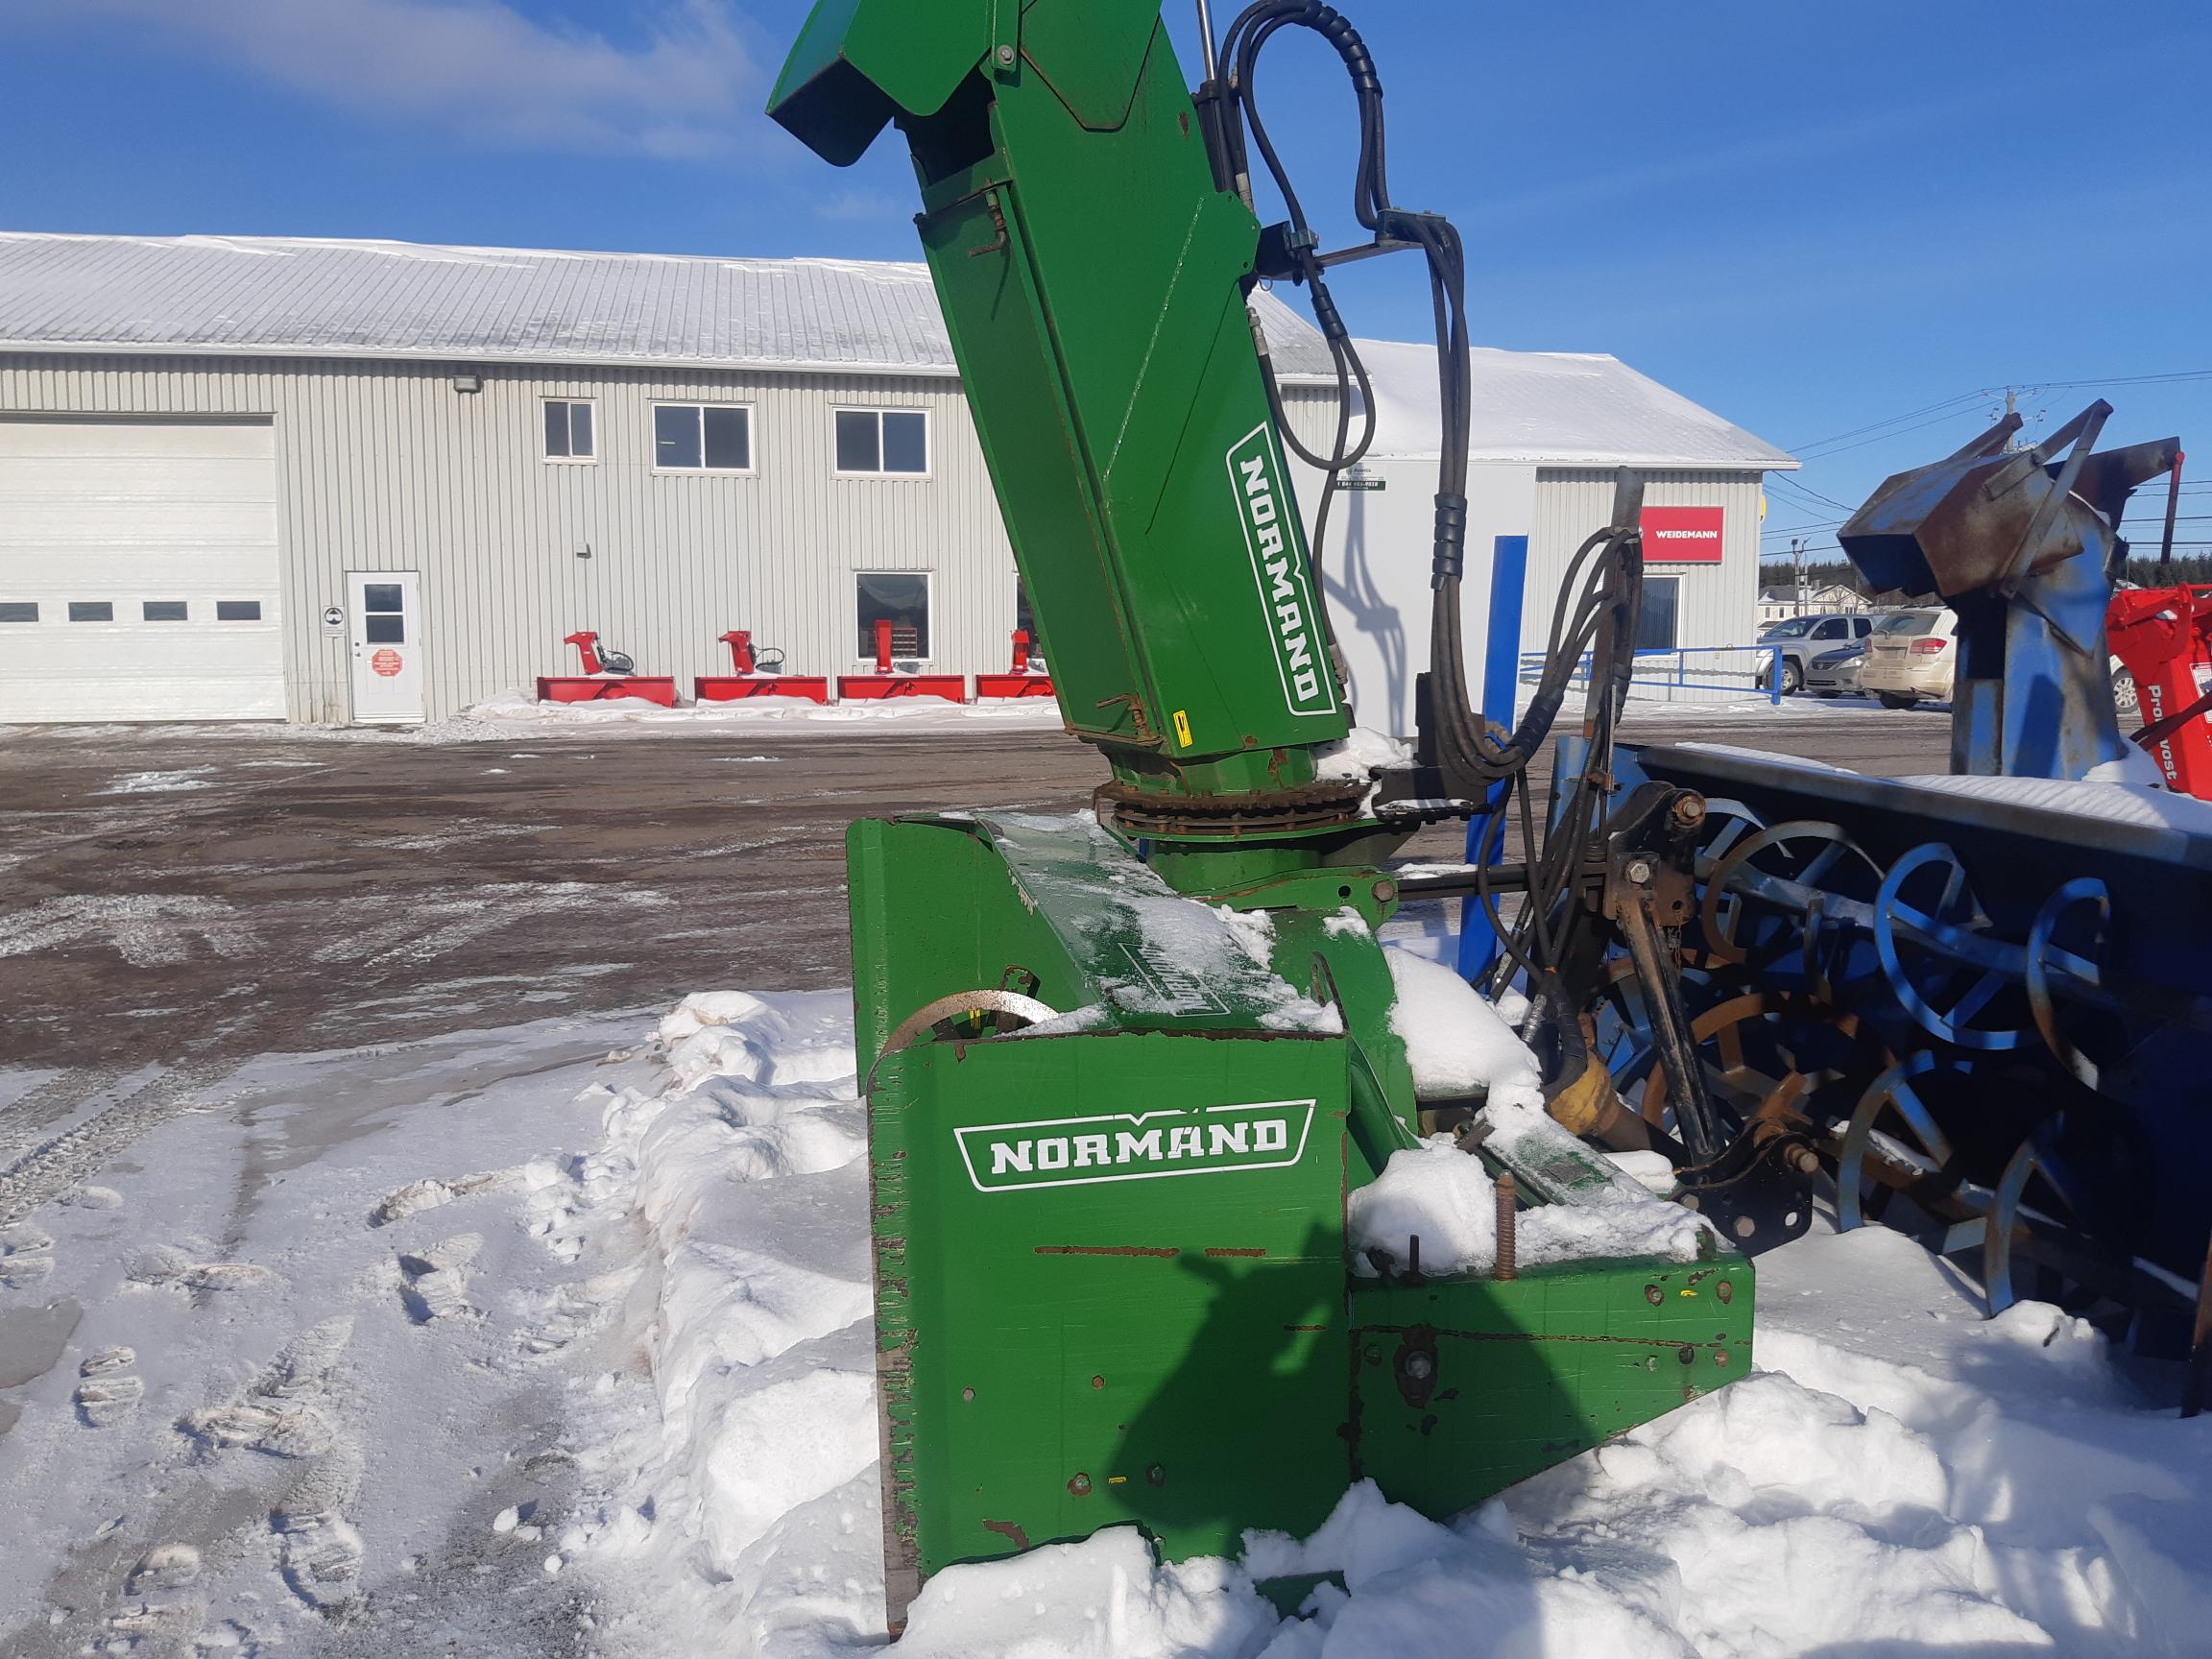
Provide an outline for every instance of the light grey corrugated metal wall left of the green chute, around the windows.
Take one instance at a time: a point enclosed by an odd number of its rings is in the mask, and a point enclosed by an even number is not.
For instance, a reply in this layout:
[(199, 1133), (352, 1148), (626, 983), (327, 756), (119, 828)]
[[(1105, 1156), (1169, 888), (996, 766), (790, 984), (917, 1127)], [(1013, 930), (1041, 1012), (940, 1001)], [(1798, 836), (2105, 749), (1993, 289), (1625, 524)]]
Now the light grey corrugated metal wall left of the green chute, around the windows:
[[(420, 571), (429, 717), (568, 672), (597, 628), (641, 672), (726, 672), (726, 628), (794, 672), (856, 666), (854, 571), (929, 571), (936, 666), (1002, 668), (1013, 549), (958, 380), (411, 363), (4, 356), (0, 409), (268, 414), (276, 427), (290, 714), (349, 717), (321, 626), (345, 571)], [(593, 398), (593, 465), (544, 460), (542, 398)], [(754, 471), (655, 473), (664, 398), (750, 403)], [(836, 478), (832, 409), (922, 407), (929, 478)], [(591, 557), (577, 557), (588, 546)]]

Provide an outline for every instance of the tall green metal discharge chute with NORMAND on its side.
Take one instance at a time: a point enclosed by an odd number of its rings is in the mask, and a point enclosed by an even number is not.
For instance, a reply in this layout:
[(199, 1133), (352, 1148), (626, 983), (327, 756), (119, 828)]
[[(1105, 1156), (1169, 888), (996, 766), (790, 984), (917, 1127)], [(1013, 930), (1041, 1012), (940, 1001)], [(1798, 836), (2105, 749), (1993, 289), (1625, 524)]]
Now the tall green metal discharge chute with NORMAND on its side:
[(1345, 737), (1243, 288), (1155, 0), (832, 0), (770, 113), (832, 161), (896, 122), (922, 248), (1071, 730), (1161, 794)]

